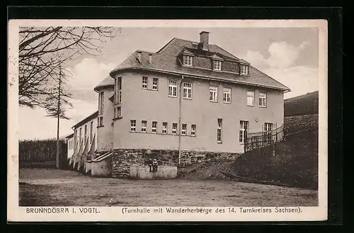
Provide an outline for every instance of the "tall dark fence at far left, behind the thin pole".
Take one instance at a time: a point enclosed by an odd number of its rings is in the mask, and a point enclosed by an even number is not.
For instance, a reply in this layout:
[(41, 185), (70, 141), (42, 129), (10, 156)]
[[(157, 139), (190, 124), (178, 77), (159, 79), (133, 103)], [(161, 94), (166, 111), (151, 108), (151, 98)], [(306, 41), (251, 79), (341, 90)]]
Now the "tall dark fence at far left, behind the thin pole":
[[(57, 140), (23, 140), (19, 142), (20, 166), (55, 166)], [(66, 162), (67, 144), (59, 141), (59, 164)]]

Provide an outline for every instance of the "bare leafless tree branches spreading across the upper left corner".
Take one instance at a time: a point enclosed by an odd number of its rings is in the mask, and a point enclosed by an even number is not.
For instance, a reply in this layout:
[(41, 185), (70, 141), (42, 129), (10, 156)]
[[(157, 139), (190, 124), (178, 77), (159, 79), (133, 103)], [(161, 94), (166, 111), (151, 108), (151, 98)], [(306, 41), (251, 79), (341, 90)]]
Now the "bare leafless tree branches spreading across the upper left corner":
[(77, 55), (98, 55), (101, 44), (118, 32), (110, 27), (20, 28), (18, 45), (18, 98), (21, 106), (46, 104), (58, 81), (59, 67)]

